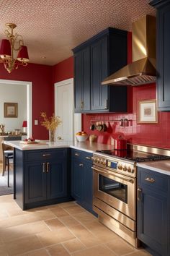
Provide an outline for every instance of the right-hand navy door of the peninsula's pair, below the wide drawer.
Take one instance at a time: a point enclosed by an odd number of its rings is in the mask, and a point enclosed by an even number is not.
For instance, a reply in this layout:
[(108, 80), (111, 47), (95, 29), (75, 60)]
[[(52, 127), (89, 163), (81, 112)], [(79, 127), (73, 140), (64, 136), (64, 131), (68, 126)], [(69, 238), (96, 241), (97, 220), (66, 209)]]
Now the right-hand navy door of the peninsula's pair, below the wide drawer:
[(47, 188), (48, 199), (66, 197), (67, 191), (66, 161), (61, 159), (47, 163)]

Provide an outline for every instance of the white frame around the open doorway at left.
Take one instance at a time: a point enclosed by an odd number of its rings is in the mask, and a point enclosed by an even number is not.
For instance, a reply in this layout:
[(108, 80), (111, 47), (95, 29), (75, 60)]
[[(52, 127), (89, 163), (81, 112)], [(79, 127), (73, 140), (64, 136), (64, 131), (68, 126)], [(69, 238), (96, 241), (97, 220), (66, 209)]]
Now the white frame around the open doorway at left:
[(0, 79), (0, 83), (27, 86), (27, 137), (32, 137), (32, 82)]

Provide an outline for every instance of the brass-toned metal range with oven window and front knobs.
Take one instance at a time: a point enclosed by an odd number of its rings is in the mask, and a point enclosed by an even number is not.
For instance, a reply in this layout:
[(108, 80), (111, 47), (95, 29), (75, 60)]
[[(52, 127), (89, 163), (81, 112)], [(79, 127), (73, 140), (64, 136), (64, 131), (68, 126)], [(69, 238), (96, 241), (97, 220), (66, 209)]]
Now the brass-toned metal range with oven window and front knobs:
[(136, 163), (169, 159), (138, 150), (102, 150), (93, 155), (93, 208), (99, 221), (134, 247), (136, 236)]

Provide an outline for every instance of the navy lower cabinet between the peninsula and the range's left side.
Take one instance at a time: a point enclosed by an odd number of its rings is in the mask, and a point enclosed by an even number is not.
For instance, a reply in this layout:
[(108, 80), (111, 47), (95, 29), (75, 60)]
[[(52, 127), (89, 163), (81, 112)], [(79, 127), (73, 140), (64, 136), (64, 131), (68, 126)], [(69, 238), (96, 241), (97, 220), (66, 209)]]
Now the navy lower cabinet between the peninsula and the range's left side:
[(93, 202), (93, 172), (91, 153), (72, 150), (71, 153), (71, 196), (89, 212)]

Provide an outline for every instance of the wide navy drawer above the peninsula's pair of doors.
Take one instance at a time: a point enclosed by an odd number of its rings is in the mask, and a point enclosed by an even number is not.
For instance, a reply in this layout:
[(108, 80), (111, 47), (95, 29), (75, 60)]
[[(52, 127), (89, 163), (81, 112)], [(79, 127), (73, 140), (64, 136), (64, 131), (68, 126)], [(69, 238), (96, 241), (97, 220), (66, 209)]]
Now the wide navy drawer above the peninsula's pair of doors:
[(64, 158), (66, 150), (30, 150), (25, 153), (25, 161), (37, 161), (37, 160), (50, 160), (57, 158)]

